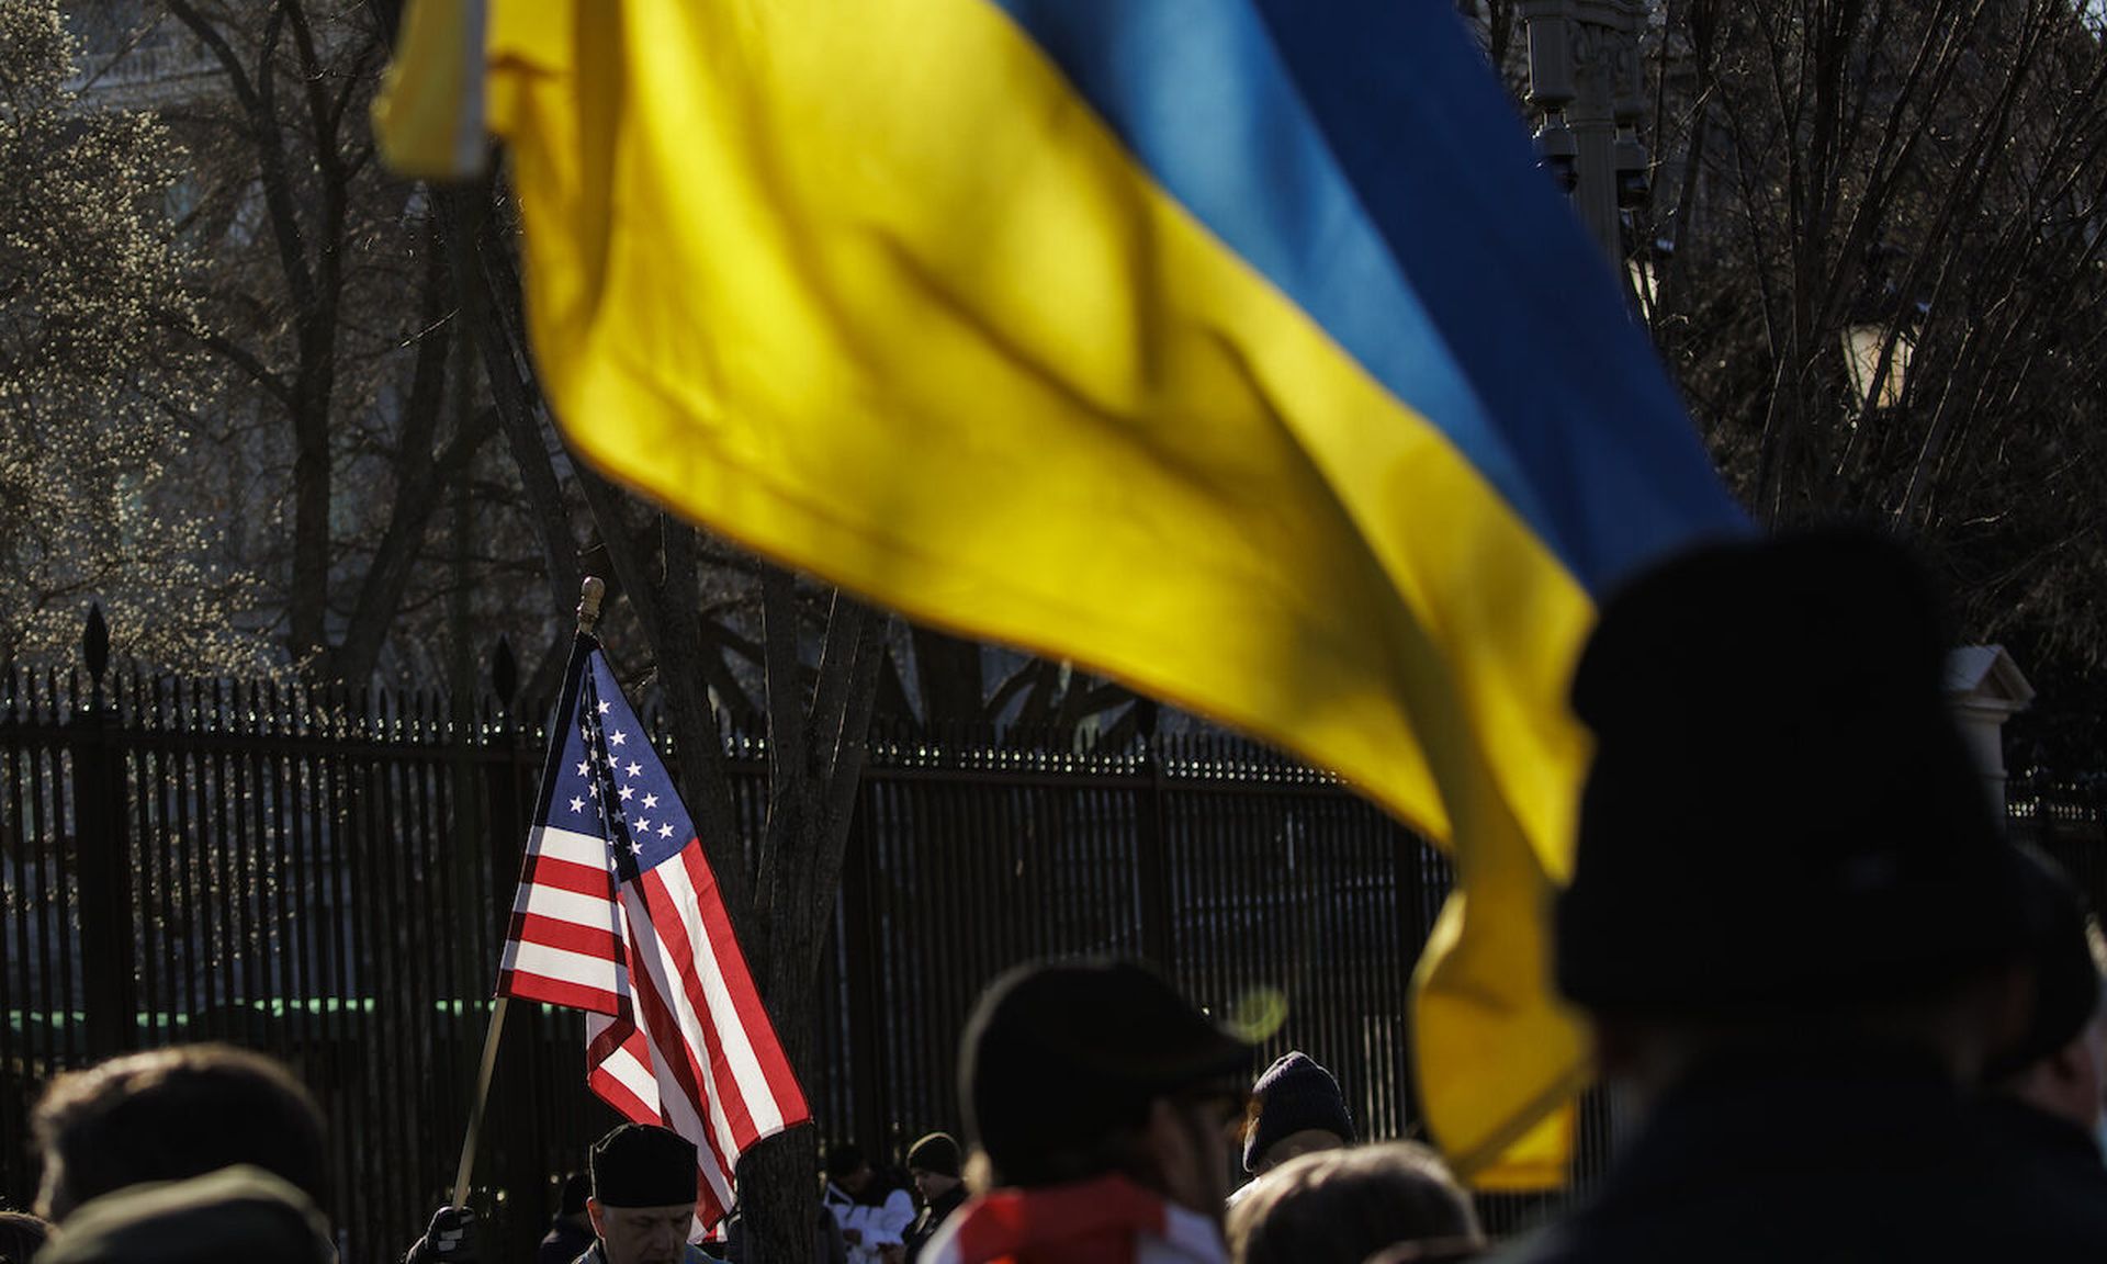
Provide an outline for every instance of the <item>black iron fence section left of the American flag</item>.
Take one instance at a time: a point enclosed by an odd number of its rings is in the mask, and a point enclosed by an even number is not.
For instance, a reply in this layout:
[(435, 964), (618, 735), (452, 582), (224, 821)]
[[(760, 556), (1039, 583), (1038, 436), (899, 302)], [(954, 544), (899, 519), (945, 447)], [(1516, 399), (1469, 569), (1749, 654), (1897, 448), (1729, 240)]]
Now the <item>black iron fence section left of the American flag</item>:
[(348, 1258), (396, 1253), (466, 1119), (504, 885), (491, 824), (516, 826), (533, 754), (430, 699), (0, 687), (0, 1192), (34, 1190), (25, 1110), (55, 1070), (219, 1039), (314, 1087)]

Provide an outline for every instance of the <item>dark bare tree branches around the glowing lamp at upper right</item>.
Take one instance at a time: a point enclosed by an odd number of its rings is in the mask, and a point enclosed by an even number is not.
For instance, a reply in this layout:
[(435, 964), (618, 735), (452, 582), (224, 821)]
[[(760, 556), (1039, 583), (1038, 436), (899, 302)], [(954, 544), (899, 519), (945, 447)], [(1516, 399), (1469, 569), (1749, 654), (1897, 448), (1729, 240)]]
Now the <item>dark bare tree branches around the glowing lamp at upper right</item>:
[(2071, 0), (1671, 0), (1641, 310), (1768, 525), (1867, 518), (2096, 661), (2107, 55)]

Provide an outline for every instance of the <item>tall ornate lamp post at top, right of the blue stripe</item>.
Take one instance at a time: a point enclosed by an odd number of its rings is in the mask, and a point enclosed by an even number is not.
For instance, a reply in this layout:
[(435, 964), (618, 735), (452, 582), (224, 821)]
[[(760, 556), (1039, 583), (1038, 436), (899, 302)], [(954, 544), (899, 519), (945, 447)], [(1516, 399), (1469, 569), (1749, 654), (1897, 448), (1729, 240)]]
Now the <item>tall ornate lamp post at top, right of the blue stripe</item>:
[(1544, 166), (1572, 192), (1589, 236), (1622, 265), (1622, 211), (1648, 196), (1639, 143), (1646, 0), (1521, 0), (1530, 105)]

